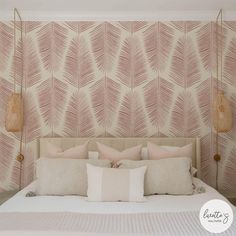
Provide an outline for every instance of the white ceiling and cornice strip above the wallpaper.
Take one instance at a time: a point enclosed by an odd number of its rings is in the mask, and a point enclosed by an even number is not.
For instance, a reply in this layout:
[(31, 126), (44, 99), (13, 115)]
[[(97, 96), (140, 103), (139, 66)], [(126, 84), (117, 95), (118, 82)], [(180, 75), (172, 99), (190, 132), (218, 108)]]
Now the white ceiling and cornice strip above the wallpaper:
[(214, 20), (220, 8), (236, 20), (236, 0), (1, 0), (0, 19), (14, 7), (25, 20)]

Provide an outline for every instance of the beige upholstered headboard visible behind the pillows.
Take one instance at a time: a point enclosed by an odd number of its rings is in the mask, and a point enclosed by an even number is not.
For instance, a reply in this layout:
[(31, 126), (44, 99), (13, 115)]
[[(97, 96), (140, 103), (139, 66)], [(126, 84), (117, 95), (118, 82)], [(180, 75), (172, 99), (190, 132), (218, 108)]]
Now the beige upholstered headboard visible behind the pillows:
[(96, 142), (104, 143), (118, 150), (123, 150), (125, 148), (132, 147), (138, 144), (143, 144), (143, 146), (146, 146), (147, 141), (156, 143), (158, 145), (180, 147), (192, 143), (192, 163), (193, 166), (198, 170), (198, 177), (201, 176), (200, 141), (198, 138), (40, 138), (38, 156), (45, 156), (44, 147), (48, 141), (65, 150), (70, 147), (83, 144), (87, 140), (90, 140), (89, 151), (97, 150)]

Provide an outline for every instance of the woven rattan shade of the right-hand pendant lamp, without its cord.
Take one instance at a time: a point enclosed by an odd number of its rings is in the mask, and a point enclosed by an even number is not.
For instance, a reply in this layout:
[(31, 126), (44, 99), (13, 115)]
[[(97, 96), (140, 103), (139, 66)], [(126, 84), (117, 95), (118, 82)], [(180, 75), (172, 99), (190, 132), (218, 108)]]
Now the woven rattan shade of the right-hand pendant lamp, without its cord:
[(222, 91), (217, 92), (213, 103), (213, 125), (217, 132), (228, 132), (232, 128), (232, 110)]

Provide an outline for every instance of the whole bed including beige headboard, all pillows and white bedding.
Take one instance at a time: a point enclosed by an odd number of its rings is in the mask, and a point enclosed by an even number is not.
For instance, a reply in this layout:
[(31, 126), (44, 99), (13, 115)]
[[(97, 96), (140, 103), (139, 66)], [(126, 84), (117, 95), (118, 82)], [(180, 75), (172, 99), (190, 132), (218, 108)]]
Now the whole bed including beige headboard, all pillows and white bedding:
[(200, 180), (197, 138), (43, 138), (38, 150), (35, 180), (0, 206), (0, 235), (210, 235), (200, 208), (227, 201)]

